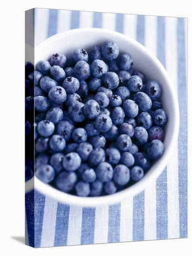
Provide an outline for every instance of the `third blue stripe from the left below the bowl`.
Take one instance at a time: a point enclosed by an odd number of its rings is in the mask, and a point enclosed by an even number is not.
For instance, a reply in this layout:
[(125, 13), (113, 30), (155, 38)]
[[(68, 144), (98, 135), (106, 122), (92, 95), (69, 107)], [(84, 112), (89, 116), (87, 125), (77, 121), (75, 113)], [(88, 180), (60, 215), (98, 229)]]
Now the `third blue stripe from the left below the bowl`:
[(83, 208), (81, 226), (81, 244), (91, 244), (94, 241), (95, 208)]

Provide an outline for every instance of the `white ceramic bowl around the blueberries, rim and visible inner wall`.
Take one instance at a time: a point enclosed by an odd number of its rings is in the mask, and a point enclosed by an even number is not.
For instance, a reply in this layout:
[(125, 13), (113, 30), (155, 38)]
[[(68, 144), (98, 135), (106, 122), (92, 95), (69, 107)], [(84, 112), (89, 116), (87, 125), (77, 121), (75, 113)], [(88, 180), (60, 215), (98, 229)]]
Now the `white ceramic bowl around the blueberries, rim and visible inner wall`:
[(129, 196), (138, 194), (161, 174), (178, 137), (179, 106), (175, 89), (172, 86), (165, 68), (145, 47), (126, 35), (99, 28), (74, 29), (56, 34), (35, 48), (35, 63), (40, 60), (48, 60), (52, 54), (57, 52), (67, 55), (72, 53), (76, 48), (83, 47), (89, 49), (94, 45), (101, 45), (106, 40), (115, 41), (119, 46), (120, 52), (127, 52), (132, 55), (133, 67), (135, 69), (143, 72), (147, 79), (158, 81), (161, 84), (163, 108), (168, 115), (164, 140), (165, 152), (162, 157), (152, 165), (141, 181), (113, 195), (99, 197), (69, 195), (41, 182), (36, 177), (34, 178), (35, 189), (66, 204), (81, 205), (84, 207), (114, 204)]

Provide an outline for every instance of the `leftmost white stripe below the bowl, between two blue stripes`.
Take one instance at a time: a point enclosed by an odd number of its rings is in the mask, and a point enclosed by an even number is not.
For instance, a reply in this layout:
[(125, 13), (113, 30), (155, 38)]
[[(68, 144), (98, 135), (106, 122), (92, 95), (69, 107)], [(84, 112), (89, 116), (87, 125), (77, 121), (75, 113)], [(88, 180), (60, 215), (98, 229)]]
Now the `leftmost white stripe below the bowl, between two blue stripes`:
[(57, 201), (46, 197), (40, 247), (54, 246)]

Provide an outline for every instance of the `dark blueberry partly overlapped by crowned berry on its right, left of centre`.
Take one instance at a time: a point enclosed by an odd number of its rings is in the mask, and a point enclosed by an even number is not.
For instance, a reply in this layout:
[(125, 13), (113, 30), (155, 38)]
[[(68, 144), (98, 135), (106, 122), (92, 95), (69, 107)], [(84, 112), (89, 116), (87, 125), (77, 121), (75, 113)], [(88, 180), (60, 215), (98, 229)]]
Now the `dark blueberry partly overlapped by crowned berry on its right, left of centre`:
[(73, 121), (82, 122), (85, 120), (86, 117), (84, 115), (83, 108), (84, 108), (84, 104), (81, 102), (74, 103), (69, 107), (68, 111)]

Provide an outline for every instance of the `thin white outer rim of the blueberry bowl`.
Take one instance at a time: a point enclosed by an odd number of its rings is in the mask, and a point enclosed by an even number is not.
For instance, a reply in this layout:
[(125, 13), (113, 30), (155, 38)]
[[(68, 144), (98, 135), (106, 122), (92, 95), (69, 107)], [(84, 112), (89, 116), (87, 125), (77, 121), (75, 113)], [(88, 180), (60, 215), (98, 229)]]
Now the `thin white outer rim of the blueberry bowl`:
[[(47, 195), (49, 197), (52, 197), (53, 199), (57, 200), (58, 202), (62, 202), (69, 205), (78, 205), (83, 207), (95, 207), (98, 205), (112, 205), (118, 202), (121, 202), (125, 200), (126, 198), (129, 198), (130, 196), (137, 195), (140, 192), (142, 192), (147, 185), (157, 179), (157, 177), (163, 172), (164, 168), (166, 167), (167, 161), (172, 153), (172, 149), (175, 146), (175, 143), (178, 138), (179, 134), (179, 104), (176, 96), (175, 89), (173, 88), (172, 81), (169, 78), (169, 75), (166, 71), (166, 69), (163, 67), (161, 62), (157, 59), (156, 56), (154, 56), (151, 52), (149, 52), (146, 47), (141, 45), (138, 41), (128, 37), (125, 34), (121, 34), (116, 31), (111, 31), (103, 28), (77, 28), (72, 29), (68, 31), (61, 32), (59, 34), (55, 34), (48, 39), (41, 42), (38, 46), (35, 47), (34, 53), (37, 50), (42, 49), (45, 47), (46, 44), (49, 44), (52, 40), (58, 40), (62, 38), (63, 36), (70, 36), (74, 33), (82, 33), (82, 32), (96, 32), (96, 33), (107, 33), (107, 34), (116, 34), (120, 38), (124, 38), (128, 40), (131, 44), (133, 44), (135, 47), (139, 47), (140, 51), (145, 52), (145, 54), (148, 55), (148, 57), (152, 60), (154, 65), (158, 66), (159, 72), (164, 76), (164, 79), (166, 80), (166, 83), (169, 86), (169, 89), (171, 91), (172, 95), (172, 101), (174, 102), (172, 108), (175, 115), (174, 118), (174, 124), (172, 124), (173, 132), (172, 132), (172, 138), (169, 147), (167, 147), (166, 152), (161, 157), (161, 162), (159, 163), (159, 168), (157, 170), (151, 172), (147, 177), (145, 176), (143, 179), (141, 179), (139, 182), (134, 183), (130, 187), (123, 189), (119, 192), (116, 192), (112, 195), (103, 195), (103, 196), (96, 196), (96, 197), (80, 197), (77, 195), (70, 195), (65, 192), (62, 192), (58, 189), (53, 188), (52, 186), (45, 184), (41, 182), (37, 177), (34, 176), (34, 179), (29, 180), (26, 182), (26, 192), (28, 192), (30, 189), (37, 189), (44, 195)], [(32, 185), (33, 183), (33, 185)], [(30, 185), (29, 185), (30, 184)], [(27, 189), (30, 188), (30, 189)], [(78, 199), (78, 200), (77, 200)]]

